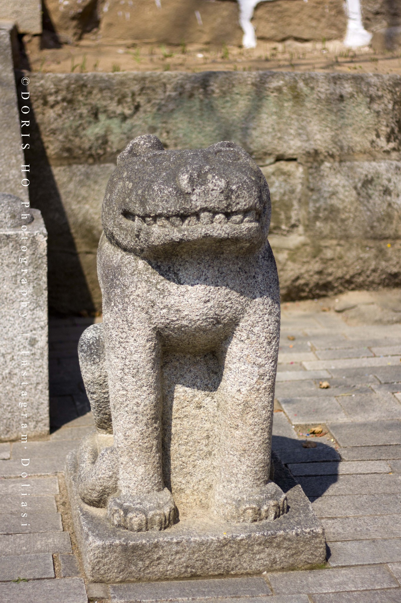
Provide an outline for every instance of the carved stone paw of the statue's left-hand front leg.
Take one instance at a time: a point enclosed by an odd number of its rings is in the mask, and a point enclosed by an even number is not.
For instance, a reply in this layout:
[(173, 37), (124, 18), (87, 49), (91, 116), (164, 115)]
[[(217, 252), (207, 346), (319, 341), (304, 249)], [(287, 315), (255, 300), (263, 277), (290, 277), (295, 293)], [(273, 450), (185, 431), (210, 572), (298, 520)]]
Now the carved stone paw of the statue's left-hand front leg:
[(177, 508), (167, 488), (143, 496), (115, 496), (109, 499), (108, 516), (117, 528), (131, 532), (162, 530), (173, 525)]

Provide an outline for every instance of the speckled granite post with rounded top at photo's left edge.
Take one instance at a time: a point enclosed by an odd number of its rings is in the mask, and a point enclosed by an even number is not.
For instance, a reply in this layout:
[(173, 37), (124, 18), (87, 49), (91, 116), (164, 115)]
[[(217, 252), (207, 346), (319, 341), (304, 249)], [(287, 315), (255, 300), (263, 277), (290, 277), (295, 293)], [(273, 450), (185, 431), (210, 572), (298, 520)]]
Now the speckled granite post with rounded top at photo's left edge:
[[(46, 256), (40, 211), (0, 193), (0, 440), (49, 433)], [(26, 403), (25, 418), (19, 403)]]

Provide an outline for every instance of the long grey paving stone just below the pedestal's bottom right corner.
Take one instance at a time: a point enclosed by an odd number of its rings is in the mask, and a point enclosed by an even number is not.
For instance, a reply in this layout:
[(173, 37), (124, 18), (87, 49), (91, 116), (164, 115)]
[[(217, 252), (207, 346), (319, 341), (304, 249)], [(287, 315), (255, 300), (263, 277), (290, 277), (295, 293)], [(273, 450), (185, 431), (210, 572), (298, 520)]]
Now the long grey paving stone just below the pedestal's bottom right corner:
[(329, 593), (344, 589), (391, 589), (399, 586), (387, 566), (268, 573), (267, 577), (273, 592), (278, 595)]

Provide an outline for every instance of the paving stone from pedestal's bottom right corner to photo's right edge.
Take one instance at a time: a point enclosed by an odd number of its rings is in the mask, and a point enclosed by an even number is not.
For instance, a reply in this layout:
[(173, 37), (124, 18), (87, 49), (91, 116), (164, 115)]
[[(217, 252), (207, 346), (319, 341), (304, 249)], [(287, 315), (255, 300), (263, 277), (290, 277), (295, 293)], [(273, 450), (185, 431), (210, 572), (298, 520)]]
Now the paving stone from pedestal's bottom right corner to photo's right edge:
[(331, 542), (329, 549), (333, 567), (401, 561), (401, 538)]

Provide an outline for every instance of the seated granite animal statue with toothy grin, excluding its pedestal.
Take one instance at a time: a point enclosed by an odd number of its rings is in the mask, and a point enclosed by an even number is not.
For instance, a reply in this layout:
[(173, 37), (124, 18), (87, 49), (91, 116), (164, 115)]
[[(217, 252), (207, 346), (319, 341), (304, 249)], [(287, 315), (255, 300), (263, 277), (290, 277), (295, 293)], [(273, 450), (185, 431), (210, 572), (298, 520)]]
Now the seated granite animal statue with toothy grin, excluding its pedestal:
[(97, 255), (103, 323), (79, 342), (96, 431), (78, 453), (79, 495), (115, 526), (176, 521), (162, 441), (161, 365), (172, 350), (213, 353), (221, 368), (211, 512), (230, 522), (286, 513), (269, 479), (280, 333), (270, 215), (265, 177), (231, 142), (164, 150), (139, 136), (118, 157)]

